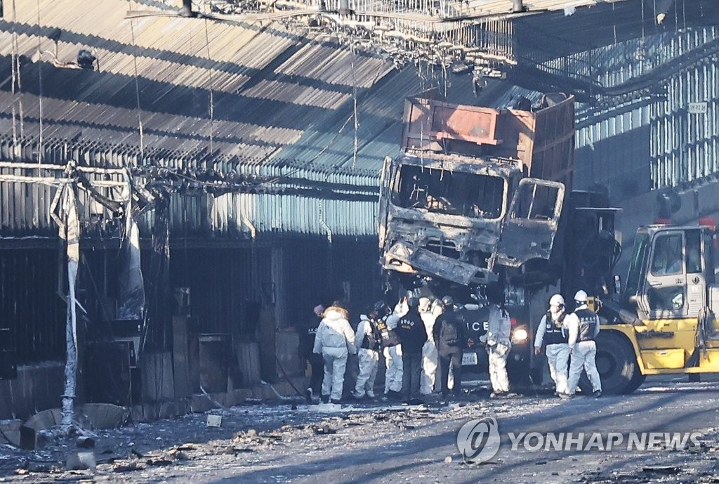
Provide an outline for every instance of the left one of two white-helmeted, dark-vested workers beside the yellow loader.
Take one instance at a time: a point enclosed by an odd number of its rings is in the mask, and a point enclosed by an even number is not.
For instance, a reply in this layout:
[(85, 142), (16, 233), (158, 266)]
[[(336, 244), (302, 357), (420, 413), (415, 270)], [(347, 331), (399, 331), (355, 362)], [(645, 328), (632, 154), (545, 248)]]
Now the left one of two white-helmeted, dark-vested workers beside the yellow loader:
[(554, 380), (554, 393), (559, 396), (567, 393), (567, 366), (569, 365), (569, 332), (564, 326), (567, 313), (564, 311), (564, 298), (554, 294), (549, 298), (549, 311), (542, 316), (534, 337), (534, 354), (541, 355), (542, 344), (546, 345), (546, 360), (549, 362), (549, 374)]

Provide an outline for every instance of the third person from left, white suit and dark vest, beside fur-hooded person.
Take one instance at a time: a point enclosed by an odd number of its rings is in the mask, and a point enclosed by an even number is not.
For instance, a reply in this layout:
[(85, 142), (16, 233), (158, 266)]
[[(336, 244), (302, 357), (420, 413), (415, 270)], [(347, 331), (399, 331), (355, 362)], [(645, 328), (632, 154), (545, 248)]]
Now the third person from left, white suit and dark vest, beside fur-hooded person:
[(375, 304), (367, 311), (369, 314), (359, 316), (357, 333), (354, 334), (354, 346), (357, 347), (359, 357), (359, 375), (354, 385), (354, 398), (375, 398), (375, 378), (377, 367), (380, 363), (380, 347), (382, 337), (377, 329), (380, 321), (379, 311), (383, 309), (384, 303)]

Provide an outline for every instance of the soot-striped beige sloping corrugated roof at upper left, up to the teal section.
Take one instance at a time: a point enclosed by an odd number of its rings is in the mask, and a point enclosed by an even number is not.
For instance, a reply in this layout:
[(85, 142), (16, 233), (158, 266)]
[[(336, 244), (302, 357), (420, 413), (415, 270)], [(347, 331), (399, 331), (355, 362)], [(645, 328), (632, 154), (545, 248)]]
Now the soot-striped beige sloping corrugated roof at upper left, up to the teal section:
[[(37, 5), (17, 2), (17, 12), (6, 6), (0, 22), (0, 55), (6, 60), (13, 52), (31, 58), (38, 45), (47, 51), (41, 62), (22, 66), (20, 93), (0, 92), (6, 106), (1, 134), (12, 133), (15, 104), (18, 112), (22, 105), (22, 134), (38, 137), (42, 100), (46, 140), (211, 149), (224, 159), (258, 163), (299, 140), (318, 120), (347, 110), (354, 91), (361, 95), (392, 69), (387, 60), (314, 42), (281, 24), (130, 21), (123, 18), (128, 4), (121, 0), (94, 1), (91, 8), (42, 0), (39, 12)], [(86, 49), (96, 55), (99, 71), (53, 66), (51, 37), (57, 34), (59, 63), (73, 62)], [(5, 62), (2, 78), (10, 76)]]

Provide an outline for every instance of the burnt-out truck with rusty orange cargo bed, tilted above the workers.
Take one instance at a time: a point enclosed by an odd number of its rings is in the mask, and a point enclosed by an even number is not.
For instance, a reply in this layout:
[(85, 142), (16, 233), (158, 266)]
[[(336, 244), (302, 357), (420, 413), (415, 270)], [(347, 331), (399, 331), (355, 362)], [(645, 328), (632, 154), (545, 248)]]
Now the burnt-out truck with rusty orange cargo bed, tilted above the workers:
[[(618, 257), (606, 197), (569, 196), (574, 98), (548, 94), (536, 110), (408, 98), (404, 123), (401, 155), (385, 159), (381, 178), (387, 284), (460, 303), (500, 284), (513, 324), (510, 380), (526, 380), (549, 286), (597, 293)], [(485, 313), (465, 313), (475, 342)], [(483, 362), (481, 347), (465, 352), (464, 364)]]

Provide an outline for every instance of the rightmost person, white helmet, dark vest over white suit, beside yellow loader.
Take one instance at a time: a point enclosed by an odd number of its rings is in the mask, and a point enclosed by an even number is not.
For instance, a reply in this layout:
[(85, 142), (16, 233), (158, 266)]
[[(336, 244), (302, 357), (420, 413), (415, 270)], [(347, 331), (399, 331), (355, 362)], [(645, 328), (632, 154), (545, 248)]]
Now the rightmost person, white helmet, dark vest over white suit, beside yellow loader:
[(564, 319), (569, 331), (569, 381), (567, 393), (561, 393), (562, 398), (572, 398), (577, 390), (582, 370), (587, 372), (592, 383), (592, 395), (602, 396), (602, 382), (599, 378), (595, 357), (597, 356), (597, 343), (595, 339), (599, 334), (599, 316), (587, 307), (587, 293), (577, 291), (574, 294), (577, 309)]

